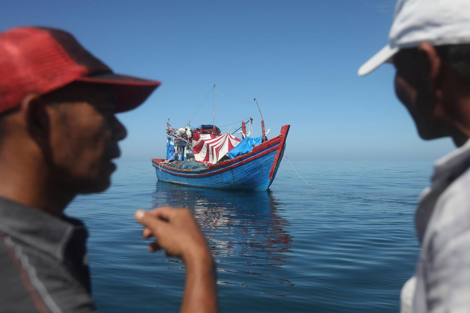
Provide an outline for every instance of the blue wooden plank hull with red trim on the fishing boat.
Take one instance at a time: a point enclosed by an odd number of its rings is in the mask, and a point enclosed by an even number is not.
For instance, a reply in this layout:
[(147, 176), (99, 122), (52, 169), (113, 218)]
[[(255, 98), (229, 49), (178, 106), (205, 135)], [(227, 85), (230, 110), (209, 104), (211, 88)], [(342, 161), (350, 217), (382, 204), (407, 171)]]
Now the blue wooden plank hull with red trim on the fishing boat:
[(250, 153), (202, 170), (172, 168), (163, 164), (162, 159), (152, 159), (152, 165), (158, 180), (163, 182), (227, 190), (267, 190), (284, 155), (289, 127), (282, 126), (278, 136), (254, 147)]

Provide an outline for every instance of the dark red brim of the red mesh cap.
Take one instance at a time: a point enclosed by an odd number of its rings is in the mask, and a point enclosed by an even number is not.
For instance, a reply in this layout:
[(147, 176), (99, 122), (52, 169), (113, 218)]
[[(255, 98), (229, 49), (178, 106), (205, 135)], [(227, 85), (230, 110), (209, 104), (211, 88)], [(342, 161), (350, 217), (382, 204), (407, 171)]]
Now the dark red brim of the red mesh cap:
[(161, 82), (155, 80), (147, 80), (114, 73), (84, 76), (77, 80), (87, 83), (113, 85), (118, 97), (116, 113), (129, 111), (140, 106), (161, 84)]

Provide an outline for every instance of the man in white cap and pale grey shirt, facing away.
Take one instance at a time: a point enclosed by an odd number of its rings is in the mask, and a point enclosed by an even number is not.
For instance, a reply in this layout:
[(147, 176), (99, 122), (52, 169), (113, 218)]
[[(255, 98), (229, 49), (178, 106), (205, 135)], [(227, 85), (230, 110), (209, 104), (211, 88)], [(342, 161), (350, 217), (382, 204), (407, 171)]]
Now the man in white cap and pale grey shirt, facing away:
[(395, 91), (423, 139), (458, 149), (435, 163), (415, 214), (421, 254), (402, 312), (470, 312), (470, 1), (399, 0), (389, 44), (360, 76), (393, 63)]

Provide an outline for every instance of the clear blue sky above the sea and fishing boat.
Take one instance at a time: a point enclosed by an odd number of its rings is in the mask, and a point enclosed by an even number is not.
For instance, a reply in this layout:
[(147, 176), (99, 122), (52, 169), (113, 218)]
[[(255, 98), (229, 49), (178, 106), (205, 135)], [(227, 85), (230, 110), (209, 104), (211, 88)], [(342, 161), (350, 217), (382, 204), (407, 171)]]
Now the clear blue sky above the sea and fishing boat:
[[(358, 77), (387, 42), (395, 0), (11, 1), (0, 31), (70, 31), (118, 73), (161, 80), (138, 109), (118, 115), (122, 160), (164, 157), (165, 122), (226, 125), (248, 117), (268, 137), (291, 124), (290, 160), (434, 160), (449, 139), (421, 140), (384, 65)], [(234, 101), (236, 100), (236, 101)], [(204, 102), (203, 102), (204, 101)], [(239, 125), (233, 126), (235, 129)]]

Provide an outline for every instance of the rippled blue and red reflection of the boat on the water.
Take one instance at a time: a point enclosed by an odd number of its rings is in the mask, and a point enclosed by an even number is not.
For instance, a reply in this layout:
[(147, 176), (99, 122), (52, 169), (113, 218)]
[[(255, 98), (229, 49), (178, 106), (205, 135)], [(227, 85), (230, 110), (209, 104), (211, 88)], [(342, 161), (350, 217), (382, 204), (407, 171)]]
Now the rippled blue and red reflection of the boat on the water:
[(248, 274), (293, 285), (278, 278), (275, 270), (290, 261), (292, 237), (285, 230), (289, 222), (278, 215), (282, 203), (271, 191), (224, 191), (158, 181), (152, 197), (154, 207), (193, 211), (217, 263), (220, 284), (251, 284)]

